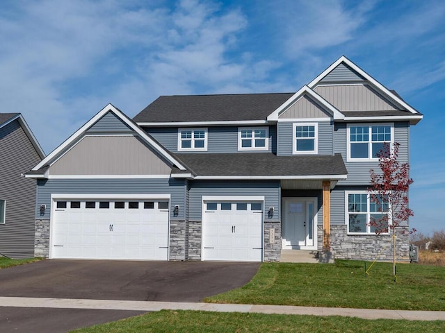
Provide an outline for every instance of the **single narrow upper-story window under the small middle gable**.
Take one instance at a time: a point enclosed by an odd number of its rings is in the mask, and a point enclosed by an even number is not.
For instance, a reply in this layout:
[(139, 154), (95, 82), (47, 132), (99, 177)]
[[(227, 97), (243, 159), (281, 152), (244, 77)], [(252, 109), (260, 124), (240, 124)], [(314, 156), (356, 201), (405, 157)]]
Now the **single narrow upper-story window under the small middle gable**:
[(293, 153), (316, 154), (318, 151), (318, 124), (293, 124)]

